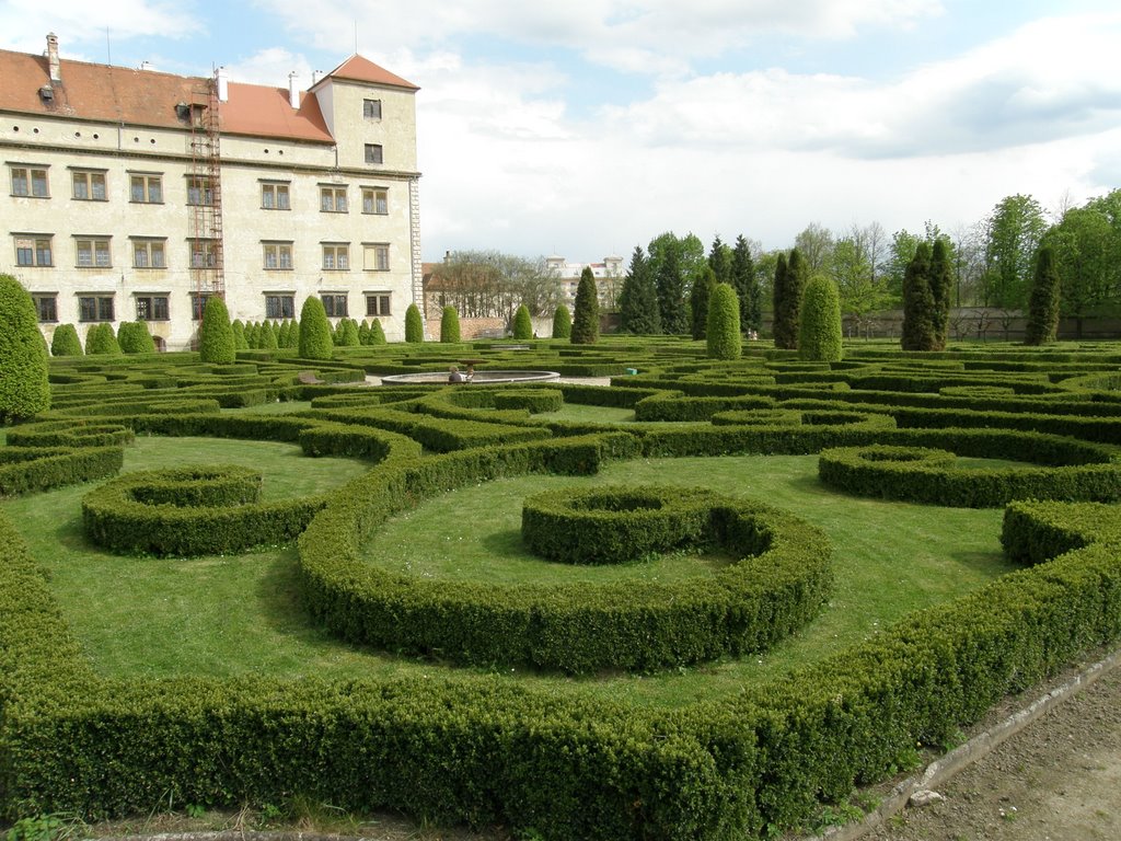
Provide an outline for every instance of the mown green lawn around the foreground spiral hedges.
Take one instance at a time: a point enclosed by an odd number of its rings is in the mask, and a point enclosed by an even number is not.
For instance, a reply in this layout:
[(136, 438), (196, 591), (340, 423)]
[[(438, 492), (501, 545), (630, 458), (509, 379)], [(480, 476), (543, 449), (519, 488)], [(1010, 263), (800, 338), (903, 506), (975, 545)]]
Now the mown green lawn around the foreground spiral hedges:
[[(127, 470), (188, 463), (251, 464), (265, 496), (317, 493), (368, 469), (307, 459), (287, 444), (141, 437)], [(1000, 554), (999, 510), (932, 508), (844, 497), (821, 487), (816, 456), (648, 460), (611, 464), (592, 478), (525, 477), (453, 491), (392, 520), (369, 547), (371, 563), (414, 574), (488, 580), (539, 579), (554, 564), (521, 549), (521, 500), (539, 490), (604, 483), (698, 486), (763, 500), (823, 528), (835, 546), (837, 583), (822, 617), (766, 655), (652, 676), (580, 680), (497, 673), (549, 692), (673, 705), (739, 692), (793, 666), (878, 632), (904, 613), (983, 584), (1009, 570)], [(319, 674), (334, 677), (429, 673), (438, 666), (336, 643), (300, 604), (290, 547), (233, 557), (120, 557), (89, 545), (81, 498), (67, 488), (4, 502), (48, 569), (67, 620), (106, 676)], [(567, 575), (711, 574), (722, 558), (676, 554), (649, 564)]]

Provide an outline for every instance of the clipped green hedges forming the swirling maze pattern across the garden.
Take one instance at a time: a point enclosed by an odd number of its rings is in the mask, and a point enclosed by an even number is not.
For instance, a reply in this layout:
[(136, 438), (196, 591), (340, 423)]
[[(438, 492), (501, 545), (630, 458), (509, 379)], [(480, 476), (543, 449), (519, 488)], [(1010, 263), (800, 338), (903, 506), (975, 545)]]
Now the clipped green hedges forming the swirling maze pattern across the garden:
[[(446, 370), (467, 351), (485, 360), (481, 370), (611, 377), (612, 387), (358, 386), (368, 373)], [(1008, 692), (1121, 636), (1121, 354), (1110, 348), (901, 354), (873, 344), (835, 363), (762, 348), (715, 362), (673, 340), (335, 349), (331, 362), (293, 352), (242, 352), (222, 366), (192, 354), (56, 360), (52, 409), (7, 432), (0, 492), (90, 482), (90, 534), (124, 552), (239, 552), (298, 534), (314, 621), (351, 644), (432, 657), (430, 674), (104, 678), (18, 524), (0, 511), (8, 819), (147, 813), (169, 793), (231, 806), (298, 794), (548, 839), (763, 835), (842, 802), (906, 763), (916, 743), (944, 745)], [(319, 383), (300, 381), (309, 369)], [(253, 412), (277, 400), (309, 403)], [(560, 405), (633, 419), (550, 417)], [(243, 471), (200, 464), (112, 479), (135, 435), (289, 442), (369, 470), (274, 510), (254, 501), (257, 479)], [(452, 588), (362, 561), (391, 517), (454, 489), (591, 475), (609, 461), (743, 453), (819, 453), (834, 492), (1007, 506), (1001, 540), (1023, 569), (772, 685), (666, 710), (574, 700), (487, 668), (633, 673), (766, 648), (812, 622), (826, 598), (828, 546), (816, 529), (739, 497), (688, 495), (682, 507), (692, 505), (700, 525), (684, 539), (722, 545), (735, 563), (671, 592), (482, 580)], [(1021, 464), (956, 468), (963, 458)], [(664, 489), (617, 492), (622, 502), (545, 497), (527, 506), (640, 519), (651, 500), (678, 505)], [(540, 549), (581, 560), (555, 523), (528, 523)], [(633, 552), (676, 540), (597, 560), (634, 563)]]

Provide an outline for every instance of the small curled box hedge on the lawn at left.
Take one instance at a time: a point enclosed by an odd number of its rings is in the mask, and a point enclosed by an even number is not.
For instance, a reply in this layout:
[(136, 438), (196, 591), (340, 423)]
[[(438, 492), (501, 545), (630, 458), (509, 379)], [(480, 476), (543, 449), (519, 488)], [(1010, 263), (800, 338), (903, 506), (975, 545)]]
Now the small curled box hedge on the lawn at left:
[(86, 537), (120, 553), (219, 555), (282, 544), (323, 497), (258, 502), (260, 474), (213, 465), (127, 473), (82, 499)]

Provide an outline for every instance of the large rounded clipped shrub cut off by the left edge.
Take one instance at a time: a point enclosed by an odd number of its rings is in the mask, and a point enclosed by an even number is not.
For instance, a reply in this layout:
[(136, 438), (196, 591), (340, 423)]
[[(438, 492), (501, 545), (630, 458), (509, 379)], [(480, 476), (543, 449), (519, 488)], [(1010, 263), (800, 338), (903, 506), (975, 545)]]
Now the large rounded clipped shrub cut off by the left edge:
[(47, 343), (35, 302), (11, 275), (0, 275), (0, 422), (35, 417), (50, 408)]

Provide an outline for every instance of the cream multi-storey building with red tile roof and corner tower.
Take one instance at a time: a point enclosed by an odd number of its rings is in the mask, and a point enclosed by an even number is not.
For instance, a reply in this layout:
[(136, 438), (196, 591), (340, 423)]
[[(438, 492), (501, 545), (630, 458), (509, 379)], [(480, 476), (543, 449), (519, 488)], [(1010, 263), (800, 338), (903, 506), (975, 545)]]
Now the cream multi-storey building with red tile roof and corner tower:
[(0, 272), (58, 324), (379, 320), (420, 302), (417, 86), (353, 55), (307, 91), (0, 50)]

